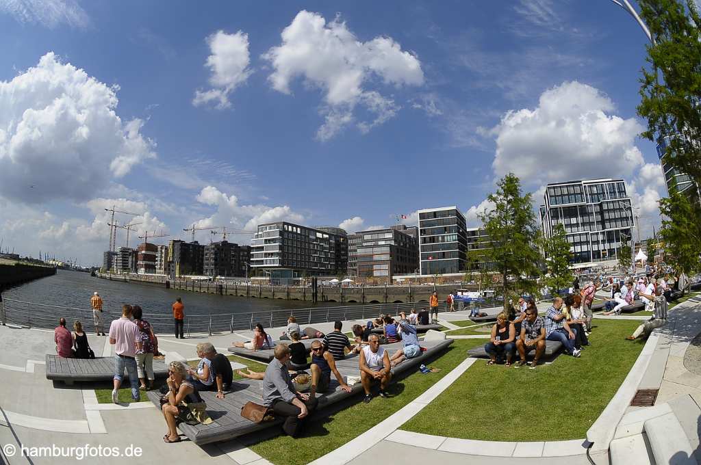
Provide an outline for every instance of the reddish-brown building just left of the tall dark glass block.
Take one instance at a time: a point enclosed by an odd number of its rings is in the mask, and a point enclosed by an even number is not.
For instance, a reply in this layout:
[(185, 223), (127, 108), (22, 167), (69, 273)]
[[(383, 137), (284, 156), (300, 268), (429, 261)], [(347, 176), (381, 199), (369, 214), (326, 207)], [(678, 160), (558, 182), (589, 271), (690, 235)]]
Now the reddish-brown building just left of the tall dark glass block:
[(375, 282), (392, 282), (393, 275), (418, 272), (418, 228), (396, 225), (358, 232), (356, 275)]

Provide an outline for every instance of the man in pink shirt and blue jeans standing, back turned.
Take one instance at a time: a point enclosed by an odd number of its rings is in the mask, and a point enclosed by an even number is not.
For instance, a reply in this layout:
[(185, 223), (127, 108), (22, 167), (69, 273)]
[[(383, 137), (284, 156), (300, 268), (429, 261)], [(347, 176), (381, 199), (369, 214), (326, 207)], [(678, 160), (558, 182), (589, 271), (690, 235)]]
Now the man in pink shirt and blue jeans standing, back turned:
[(109, 343), (114, 345), (114, 388), (112, 389), (112, 402), (119, 403), (118, 390), (122, 384), (124, 368), (129, 375), (132, 388), (132, 400), (138, 402), (139, 375), (136, 368), (135, 341), (139, 334), (139, 328), (131, 321), (131, 305), (122, 305), (122, 317), (112, 321), (109, 325)]

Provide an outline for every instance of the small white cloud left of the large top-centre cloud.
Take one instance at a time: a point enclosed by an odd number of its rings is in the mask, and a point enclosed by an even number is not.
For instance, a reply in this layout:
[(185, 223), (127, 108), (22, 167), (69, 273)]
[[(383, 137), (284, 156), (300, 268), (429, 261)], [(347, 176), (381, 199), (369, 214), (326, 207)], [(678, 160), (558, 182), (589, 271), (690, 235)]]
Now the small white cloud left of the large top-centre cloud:
[(229, 94), (245, 83), (252, 73), (248, 67), (251, 62), (248, 34), (241, 31), (226, 34), (219, 30), (207, 37), (207, 45), (211, 55), (207, 57), (205, 67), (212, 73), (209, 79), (212, 88), (196, 90), (192, 104), (198, 106), (214, 102), (216, 109), (228, 109), (231, 107)]

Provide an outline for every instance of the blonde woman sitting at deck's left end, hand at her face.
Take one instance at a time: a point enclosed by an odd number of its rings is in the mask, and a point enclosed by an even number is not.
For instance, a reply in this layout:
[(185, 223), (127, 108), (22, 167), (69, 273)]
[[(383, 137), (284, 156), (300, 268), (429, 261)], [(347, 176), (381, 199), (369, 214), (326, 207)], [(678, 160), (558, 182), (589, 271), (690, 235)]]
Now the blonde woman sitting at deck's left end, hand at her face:
[[(212, 419), (207, 415), (206, 405), (203, 402), (197, 389), (191, 382), (185, 379), (186, 369), (182, 362), (173, 361), (168, 366), (168, 394), (165, 394), (165, 403), (161, 405), (161, 412), (168, 424), (168, 432), (163, 436), (165, 443), (179, 443), (180, 435), (177, 433), (177, 419), (182, 418), (189, 410), (193, 416), (202, 424), (212, 423)], [(186, 403), (185, 406), (183, 403)]]

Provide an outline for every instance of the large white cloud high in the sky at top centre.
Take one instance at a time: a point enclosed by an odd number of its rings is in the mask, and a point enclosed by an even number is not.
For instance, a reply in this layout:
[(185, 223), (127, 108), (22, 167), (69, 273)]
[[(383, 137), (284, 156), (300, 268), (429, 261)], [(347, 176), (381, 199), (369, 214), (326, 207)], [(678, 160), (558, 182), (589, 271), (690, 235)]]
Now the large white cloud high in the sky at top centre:
[(301, 77), (309, 87), (324, 92), (320, 113), (325, 123), (317, 132), (322, 141), (353, 123), (358, 104), (374, 115), (372, 120), (358, 123), (362, 132), (395, 116), (399, 106), (393, 99), (366, 90), (372, 78), (395, 88), (423, 84), (416, 55), (402, 51), (390, 37), (359, 41), (339, 18), (327, 23), (322, 15), (302, 10), (281, 36), (280, 46), (263, 55), (273, 67), (268, 81), (273, 89), (291, 94), (290, 84)]

